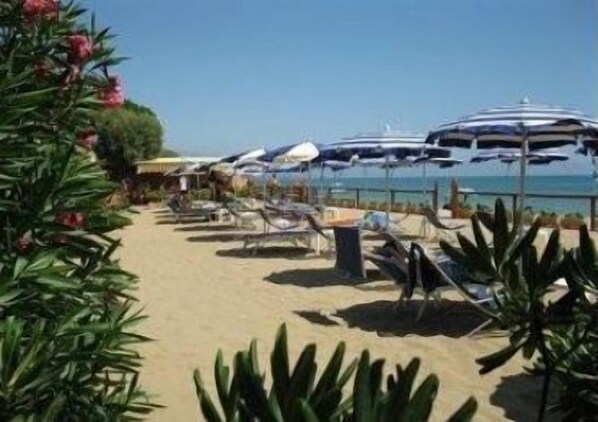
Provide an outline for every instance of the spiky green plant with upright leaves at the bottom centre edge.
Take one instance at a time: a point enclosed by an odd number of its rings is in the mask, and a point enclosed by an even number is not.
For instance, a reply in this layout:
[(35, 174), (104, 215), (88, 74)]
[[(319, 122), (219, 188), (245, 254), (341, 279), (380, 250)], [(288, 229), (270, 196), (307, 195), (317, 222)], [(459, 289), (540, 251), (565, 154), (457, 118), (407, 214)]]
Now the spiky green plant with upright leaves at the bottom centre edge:
[[(368, 351), (343, 368), (345, 344), (339, 343), (320, 377), (316, 376), (316, 345), (305, 346), (291, 370), (285, 326), (278, 330), (270, 357), (272, 383), (259, 368), (257, 346), (235, 355), (232, 368), (218, 352), (214, 367), (219, 412), (199, 370), (194, 381), (201, 412), (212, 421), (425, 421), (432, 412), (439, 381), (429, 375), (419, 386), (415, 379), (419, 359), (396, 372), (383, 384), (384, 360), (370, 362)], [(345, 385), (355, 373), (352, 394), (344, 397)], [(470, 398), (450, 421), (469, 421), (477, 409)]]

